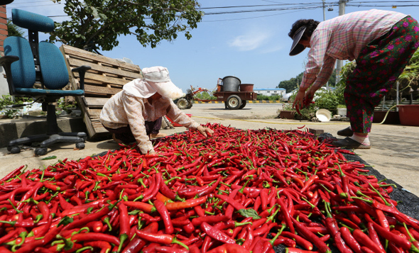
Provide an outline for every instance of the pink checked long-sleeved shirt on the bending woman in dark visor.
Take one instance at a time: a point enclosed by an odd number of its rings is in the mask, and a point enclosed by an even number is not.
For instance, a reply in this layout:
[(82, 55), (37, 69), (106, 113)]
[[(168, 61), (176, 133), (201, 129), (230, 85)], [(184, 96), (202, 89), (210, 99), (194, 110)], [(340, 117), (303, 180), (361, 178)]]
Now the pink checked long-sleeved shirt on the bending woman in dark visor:
[(320, 22), (310, 39), (308, 63), (300, 87), (327, 83), (339, 60), (355, 60), (371, 41), (386, 34), (406, 14), (395, 11), (357, 11)]

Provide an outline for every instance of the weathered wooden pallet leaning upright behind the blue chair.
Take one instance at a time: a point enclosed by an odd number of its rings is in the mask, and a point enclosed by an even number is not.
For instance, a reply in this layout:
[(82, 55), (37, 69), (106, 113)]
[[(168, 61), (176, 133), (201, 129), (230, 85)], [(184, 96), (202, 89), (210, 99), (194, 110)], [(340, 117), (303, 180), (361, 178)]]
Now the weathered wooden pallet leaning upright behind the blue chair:
[(78, 96), (76, 100), (82, 110), (89, 137), (108, 135), (99, 121), (100, 111), (111, 96), (121, 91), (124, 84), (141, 78), (140, 67), (69, 45), (62, 45), (60, 50), (67, 64), (71, 89), (80, 87), (78, 73), (71, 72), (71, 69), (82, 65), (92, 67), (85, 75), (85, 96)]

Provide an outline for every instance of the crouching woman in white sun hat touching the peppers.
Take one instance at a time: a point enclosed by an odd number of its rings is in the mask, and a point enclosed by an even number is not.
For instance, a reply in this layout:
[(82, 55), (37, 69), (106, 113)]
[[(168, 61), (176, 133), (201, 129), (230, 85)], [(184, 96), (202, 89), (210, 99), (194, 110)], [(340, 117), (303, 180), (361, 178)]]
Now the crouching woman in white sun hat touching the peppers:
[(170, 119), (186, 128), (196, 129), (202, 135), (214, 133), (202, 127), (180, 111), (172, 99), (183, 96), (183, 92), (170, 81), (165, 67), (143, 68), (143, 79), (135, 79), (124, 85), (124, 89), (104, 104), (100, 122), (114, 134), (118, 142), (138, 142), (143, 154), (154, 153), (148, 135), (153, 124), (167, 115)]

